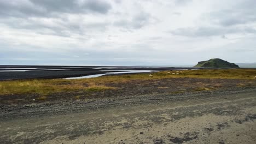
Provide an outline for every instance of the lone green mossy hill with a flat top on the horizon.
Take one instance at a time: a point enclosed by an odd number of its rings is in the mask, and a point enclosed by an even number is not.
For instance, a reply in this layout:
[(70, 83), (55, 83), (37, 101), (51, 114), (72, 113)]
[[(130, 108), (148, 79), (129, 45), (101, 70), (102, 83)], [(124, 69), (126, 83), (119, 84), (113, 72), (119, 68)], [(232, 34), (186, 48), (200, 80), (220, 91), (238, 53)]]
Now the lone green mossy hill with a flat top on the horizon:
[(213, 58), (208, 61), (198, 62), (194, 67), (202, 68), (239, 68), (235, 63), (229, 63), (219, 58)]

